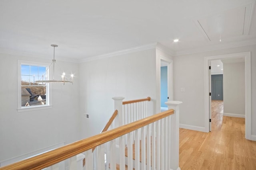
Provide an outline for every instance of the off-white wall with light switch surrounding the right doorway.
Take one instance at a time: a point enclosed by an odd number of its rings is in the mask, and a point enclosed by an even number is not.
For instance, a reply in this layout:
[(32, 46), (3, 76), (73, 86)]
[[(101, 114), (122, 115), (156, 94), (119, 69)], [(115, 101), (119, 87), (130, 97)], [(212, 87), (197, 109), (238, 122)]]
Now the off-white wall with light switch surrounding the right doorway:
[[(174, 57), (174, 100), (180, 100), (180, 123), (204, 130), (204, 57), (251, 51), (252, 135), (256, 135), (256, 45)], [(186, 88), (186, 92), (180, 92)]]

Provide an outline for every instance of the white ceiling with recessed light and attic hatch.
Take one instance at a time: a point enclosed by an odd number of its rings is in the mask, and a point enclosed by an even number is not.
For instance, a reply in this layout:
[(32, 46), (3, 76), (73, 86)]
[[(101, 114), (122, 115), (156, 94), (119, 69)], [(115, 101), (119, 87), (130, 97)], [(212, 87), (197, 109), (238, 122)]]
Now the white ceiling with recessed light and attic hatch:
[(80, 61), (155, 42), (173, 55), (255, 44), (255, 2), (0, 0), (0, 52), (51, 59), (57, 44), (57, 60)]

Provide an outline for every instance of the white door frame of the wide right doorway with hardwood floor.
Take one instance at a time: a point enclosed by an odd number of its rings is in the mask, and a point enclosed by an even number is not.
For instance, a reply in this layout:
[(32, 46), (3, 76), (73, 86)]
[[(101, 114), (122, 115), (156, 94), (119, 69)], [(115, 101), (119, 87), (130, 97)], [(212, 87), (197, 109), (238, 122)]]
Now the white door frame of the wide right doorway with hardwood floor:
[(243, 53), (233, 53), (226, 55), (215, 55), (210, 57), (204, 57), (204, 110), (205, 110), (205, 131), (209, 132), (210, 126), (210, 76), (209, 76), (209, 62), (212, 60), (222, 60), (222, 59), (236, 59), (244, 58), (245, 65), (245, 138), (251, 140), (251, 52)]

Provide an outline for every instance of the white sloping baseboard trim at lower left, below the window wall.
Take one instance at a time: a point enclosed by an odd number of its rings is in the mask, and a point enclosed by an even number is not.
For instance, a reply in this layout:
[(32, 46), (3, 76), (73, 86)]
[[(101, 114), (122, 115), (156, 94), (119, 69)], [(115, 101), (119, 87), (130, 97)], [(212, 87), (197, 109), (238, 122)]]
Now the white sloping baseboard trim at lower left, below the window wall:
[(29, 153), (25, 153), (25, 154), (21, 154), (19, 156), (14, 156), (12, 158), (9, 158), (9, 159), (6, 159), (6, 160), (2, 160), (0, 162), (0, 167), (2, 166), (6, 166), (8, 164), (12, 164), (14, 162), (18, 162), (20, 160), (23, 160), (23, 159), (26, 159), (26, 158), (30, 158), (32, 156), (36, 156), (38, 154), (42, 154), (44, 152), (48, 152), (50, 150), (53, 150), (53, 149), (56, 149), (56, 148), (59, 148), (59, 147), (62, 147), (65, 145), (65, 142), (61, 142), (61, 143), (56, 143), (54, 145), (50, 145), (48, 147), (44, 147), (44, 148), (41, 148), (41, 149), (38, 149), (38, 150), (34, 150), (32, 152), (29, 152)]

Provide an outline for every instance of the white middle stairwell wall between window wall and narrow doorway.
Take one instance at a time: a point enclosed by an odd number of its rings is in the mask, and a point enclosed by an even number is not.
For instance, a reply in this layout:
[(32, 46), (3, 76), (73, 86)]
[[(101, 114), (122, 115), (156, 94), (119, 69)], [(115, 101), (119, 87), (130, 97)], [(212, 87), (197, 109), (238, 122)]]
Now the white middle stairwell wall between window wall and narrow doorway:
[(83, 138), (100, 133), (106, 125), (114, 112), (114, 96), (125, 97), (124, 101), (150, 96), (148, 106), (156, 111), (155, 49), (88, 61), (79, 67)]

